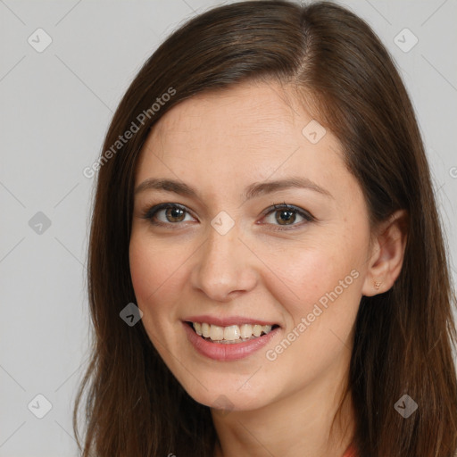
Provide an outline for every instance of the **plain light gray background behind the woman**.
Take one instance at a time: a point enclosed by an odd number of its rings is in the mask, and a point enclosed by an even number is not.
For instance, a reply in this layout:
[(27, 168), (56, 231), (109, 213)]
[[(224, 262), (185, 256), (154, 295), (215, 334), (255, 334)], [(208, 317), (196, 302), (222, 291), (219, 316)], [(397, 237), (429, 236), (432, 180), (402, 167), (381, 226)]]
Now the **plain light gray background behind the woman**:
[[(457, 1), (342, 3), (370, 23), (401, 68), (452, 262)], [(112, 112), (145, 59), (179, 24), (215, 4), (222, 2), (0, 0), (2, 457), (77, 455), (71, 407), (87, 359), (86, 251), (95, 183), (82, 170), (100, 154)], [(39, 28), (52, 38), (42, 52), (28, 42), (46, 44)], [(419, 40), (408, 52), (414, 37), (405, 28)], [(46, 401), (38, 394), (52, 404), (42, 419), (36, 415), (46, 412)]]

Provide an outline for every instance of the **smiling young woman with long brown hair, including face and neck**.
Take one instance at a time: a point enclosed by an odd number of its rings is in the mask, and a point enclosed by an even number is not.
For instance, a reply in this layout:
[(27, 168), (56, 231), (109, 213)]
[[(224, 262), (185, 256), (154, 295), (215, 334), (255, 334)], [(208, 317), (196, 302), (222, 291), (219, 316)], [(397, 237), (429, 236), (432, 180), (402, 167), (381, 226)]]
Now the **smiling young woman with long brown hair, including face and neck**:
[(188, 21), (97, 168), (84, 457), (456, 453), (428, 163), (364, 21), (281, 1)]

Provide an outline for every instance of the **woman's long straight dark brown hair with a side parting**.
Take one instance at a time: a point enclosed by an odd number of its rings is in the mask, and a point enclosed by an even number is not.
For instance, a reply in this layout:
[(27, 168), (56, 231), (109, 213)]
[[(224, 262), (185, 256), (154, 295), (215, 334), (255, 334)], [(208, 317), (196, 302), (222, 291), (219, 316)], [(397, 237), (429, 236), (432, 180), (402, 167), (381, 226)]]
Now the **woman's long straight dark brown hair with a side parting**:
[[(453, 456), (455, 295), (409, 96), (386, 48), (353, 12), (328, 2), (287, 1), (228, 4), (187, 21), (145, 62), (113, 116), (96, 166), (88, 250), (94, 339), (73, 416), (82, 455), (212, 456), (210, 409), (179, 385), (141, 321), (129, 327), (120, 311), (136, 303), (129, 237), (146, 137), (179, 102), (248, 79), (296, 87), (343, 145), (373, 227), (399, 209), (409, 216), (399, 278), (386, 293), (363, 296), (355, 322), (349, 383), (361, 457)], [(394, 407), (404, 394), (419, 405), (408, 419)]]

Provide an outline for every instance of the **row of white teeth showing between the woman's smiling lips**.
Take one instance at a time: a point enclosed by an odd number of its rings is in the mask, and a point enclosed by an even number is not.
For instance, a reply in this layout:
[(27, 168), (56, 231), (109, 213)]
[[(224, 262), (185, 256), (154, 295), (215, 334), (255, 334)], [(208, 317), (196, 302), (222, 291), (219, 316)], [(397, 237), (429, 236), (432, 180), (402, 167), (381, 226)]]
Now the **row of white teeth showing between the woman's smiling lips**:
[(187, 321), (186, 323), (205, 341), (219, 343), (222, 345), (236, 345), (237, 343), (244, 343), (245, 341), (250, 341), (252, 339), (268, 335), (270, 331), (279, 327), (277, 324), (273, 326), (242, 324), (220, 327), (206, 322)]

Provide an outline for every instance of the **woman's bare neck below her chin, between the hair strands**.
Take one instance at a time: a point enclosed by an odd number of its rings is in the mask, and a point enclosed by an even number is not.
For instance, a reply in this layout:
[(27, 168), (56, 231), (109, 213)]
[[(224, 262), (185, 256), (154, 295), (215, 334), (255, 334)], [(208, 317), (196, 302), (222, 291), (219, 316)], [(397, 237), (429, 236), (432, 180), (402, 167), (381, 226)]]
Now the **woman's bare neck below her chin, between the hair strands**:
[(326, 376), (257, 410), (226, 416), (212, 411), (214, 456), (341, 457), (352, 442), (355, 419), (351, 393), (343, 398), (345, 386), (341, 377)]

